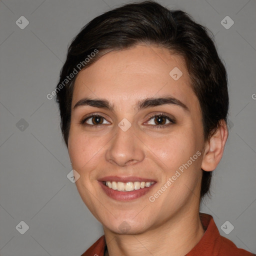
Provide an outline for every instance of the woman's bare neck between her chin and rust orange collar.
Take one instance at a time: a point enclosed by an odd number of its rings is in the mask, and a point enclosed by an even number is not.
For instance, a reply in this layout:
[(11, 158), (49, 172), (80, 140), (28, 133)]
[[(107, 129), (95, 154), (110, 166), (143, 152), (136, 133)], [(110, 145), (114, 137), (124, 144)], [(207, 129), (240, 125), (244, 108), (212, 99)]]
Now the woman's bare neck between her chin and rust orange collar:
[(106, 255), (185, 255), (204, 233), (198, 210), (194, 214), (185, 213), (139, 234), (116, 234), (104, 228)]

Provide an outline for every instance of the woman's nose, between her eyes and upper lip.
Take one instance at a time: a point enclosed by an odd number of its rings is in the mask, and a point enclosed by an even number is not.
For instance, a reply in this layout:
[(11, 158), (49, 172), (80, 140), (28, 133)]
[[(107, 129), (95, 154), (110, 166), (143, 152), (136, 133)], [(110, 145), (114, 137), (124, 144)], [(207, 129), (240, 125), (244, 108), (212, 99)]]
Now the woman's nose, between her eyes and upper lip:
[(115, 136), (110, 140), (109, 147), (106, 150), (106, 160), (118, 166), (135, 164), (144, 159), (145, 145), (138, 138), (133, 126), (123, 131), (116, 128)]

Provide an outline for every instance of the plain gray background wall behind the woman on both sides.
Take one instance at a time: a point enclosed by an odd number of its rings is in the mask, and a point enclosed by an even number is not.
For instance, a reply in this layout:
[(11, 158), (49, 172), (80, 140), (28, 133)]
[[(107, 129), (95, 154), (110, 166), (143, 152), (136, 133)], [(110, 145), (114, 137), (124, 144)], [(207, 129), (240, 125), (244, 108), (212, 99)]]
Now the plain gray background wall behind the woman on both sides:
[[(80, 255), (103, 233), (66, 177), (71, 166), (58, 108), (46, 94), (80, 28), (127, 2), (0, 0), (1, 256)], [(230, 133), (201, 211), (221, 235), (255, 253), (255, 0), (159, 2), (187, 11), (215, 35), (228, 72)], [(15, 24), (21, 15), (29, 21), (24, 29)], [(229, 29), (220, 23), (226, 15), (234, 21)], [(15, 228), (21, 220), (29, 226), (24, 234)], [(220, 228), (226, 220), (234, 226), (229, 234)]]

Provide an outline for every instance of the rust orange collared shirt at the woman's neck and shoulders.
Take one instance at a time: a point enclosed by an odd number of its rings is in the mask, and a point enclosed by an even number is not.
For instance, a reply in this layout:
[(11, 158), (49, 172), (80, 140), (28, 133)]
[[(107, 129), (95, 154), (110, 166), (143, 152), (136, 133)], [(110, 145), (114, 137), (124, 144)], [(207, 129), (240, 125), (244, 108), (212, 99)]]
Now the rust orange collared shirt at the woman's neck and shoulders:
[[(204, 234), (185, 256), (252, 256), (251, 252), (237, 248), (229, 239), (221, 236), (211, 215), (200, 213)], [(105, 237), (102, 235), (81, 256), (104, 256)]]

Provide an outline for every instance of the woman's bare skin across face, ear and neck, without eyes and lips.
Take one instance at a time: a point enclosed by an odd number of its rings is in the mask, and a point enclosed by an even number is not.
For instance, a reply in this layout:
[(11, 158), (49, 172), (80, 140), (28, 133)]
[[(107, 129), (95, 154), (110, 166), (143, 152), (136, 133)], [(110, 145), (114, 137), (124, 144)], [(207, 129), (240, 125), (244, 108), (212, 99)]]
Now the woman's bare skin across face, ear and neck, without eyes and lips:
[[(176, 81), (169, 75), (174, 67), (183, 73)], [(201, 168), (211, 171), (220, 161), (227, 128), (220, 121), (212, 137), (203, 140), (199, 101), (190, 84), (183, 59), (152, 45), (109, 52), (77, 74), (68, 152), (80, 175), (77, 190), (103, 225), (105, 255), (184, 255), (204, 233), (198, 214)], [(166, 95), (179, 99), (188, 110), (174, 104), (139, 111), (135, 107), (138, 100)], [(83, 97), (107, 99), (114, 110), (88, 105), (73, 109)], [(92, 127), (93, 118), (84, 123), (91, 126), (80, 122), (92, 113), (103, 117), (97, 128)], [(174, 117), (175, 123), (164, 119), (166, 126), (158, 128), (150, 115), (160, 113)], [(126, 131), (118, 127), (123, 118), (131, 123)], [(149, 196), (197, 151), (201, 155), (150, 202)], [(147, 177), (156, 184), (137, 199), (117, 201), (98, 184), (106, 175)], [(119, 229), (123, 221), (129, 227), (126, 231)]]

